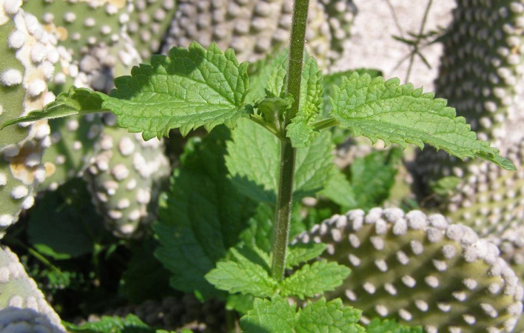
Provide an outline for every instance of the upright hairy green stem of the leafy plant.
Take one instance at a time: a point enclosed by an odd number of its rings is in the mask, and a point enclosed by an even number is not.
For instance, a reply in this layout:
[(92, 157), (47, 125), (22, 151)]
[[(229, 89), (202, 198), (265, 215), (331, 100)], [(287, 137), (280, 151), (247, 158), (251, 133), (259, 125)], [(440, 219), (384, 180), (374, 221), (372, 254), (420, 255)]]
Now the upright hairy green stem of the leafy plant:
[[(294, 102), (284, 116), (282, 131), (299, 110), (300, 82), (304, 61), (305, 27), (308, 22), (309, 0), (295, 0), (291, 21), (291, 36), (289, 41), (288, 73), (286, 92), (293, 96)], [(272, 249), (271, 275), (282, 280), (286, 267), (286, 251), (289, 238), (289, 221), (291, 204), (293, 202), (294, 164), (297, 150), (291, 146), (291, 140), (286, 136), (280, 140), (280, 173), (278, 181), (277, 214), (275, 234)]]

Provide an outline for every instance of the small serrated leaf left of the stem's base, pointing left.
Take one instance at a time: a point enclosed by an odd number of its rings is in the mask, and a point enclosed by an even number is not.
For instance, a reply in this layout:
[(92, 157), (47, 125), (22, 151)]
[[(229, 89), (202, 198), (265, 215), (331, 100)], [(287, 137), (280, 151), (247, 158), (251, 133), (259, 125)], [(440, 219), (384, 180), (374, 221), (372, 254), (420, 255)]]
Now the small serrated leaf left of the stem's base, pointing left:
[(236, 262), (228, 260), (217, 263), (216, 268), (205, 275), (205, 279), (216, 288), (226, 290), (231, 294), (252, 294), (255, 297), (271, 296), (275, 292), (277, 281), (269, 276), (269, 268), (249, 260), (244, 253), (235, 248), (231, 248), (230, 251)]

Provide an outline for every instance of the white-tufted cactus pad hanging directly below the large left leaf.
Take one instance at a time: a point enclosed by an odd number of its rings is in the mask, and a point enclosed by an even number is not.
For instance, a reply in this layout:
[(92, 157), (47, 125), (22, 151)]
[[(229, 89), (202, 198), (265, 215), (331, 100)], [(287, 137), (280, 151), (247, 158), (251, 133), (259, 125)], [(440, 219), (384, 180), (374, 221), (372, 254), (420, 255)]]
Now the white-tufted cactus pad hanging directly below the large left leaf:
[(106, 227), (119, 237), (139, 236), (140, 225), (155, 218), (154, 205), (162, 180), (170, 173), (169, 161), (162, 141), (144, 141), (139, 133), (114, 126), (112, 114), (104, 120), (101, 151), (85, 177)]

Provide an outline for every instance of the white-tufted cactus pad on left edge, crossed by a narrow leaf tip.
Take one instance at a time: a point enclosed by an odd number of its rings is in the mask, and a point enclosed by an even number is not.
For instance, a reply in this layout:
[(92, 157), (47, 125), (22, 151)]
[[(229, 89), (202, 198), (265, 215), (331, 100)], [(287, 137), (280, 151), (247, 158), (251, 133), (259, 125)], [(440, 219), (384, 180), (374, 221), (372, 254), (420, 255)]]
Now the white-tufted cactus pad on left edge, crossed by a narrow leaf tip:
[[(0, 121), (41, 109), (54, 99), (47, 92), (54, 70), (47, 56), (53, 49), (37, 19), (24, 13), (20, 4), (0, 1)], [(49, 145), (47, 121), (1, 132), (0, 232), (34, 203), (33, 188), (46, 176), (42, 151)]]

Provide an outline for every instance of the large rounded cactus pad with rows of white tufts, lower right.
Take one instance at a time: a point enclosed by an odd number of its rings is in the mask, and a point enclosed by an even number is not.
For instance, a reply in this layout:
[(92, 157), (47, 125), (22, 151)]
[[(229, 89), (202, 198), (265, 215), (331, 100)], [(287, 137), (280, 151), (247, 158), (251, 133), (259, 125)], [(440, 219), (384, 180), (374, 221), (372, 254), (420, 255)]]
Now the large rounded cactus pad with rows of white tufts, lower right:
[(444, 216), (398, 208), (351, 210), (303, 233), (350, 277), (330, 297), (434, 332), (509, 332), (522, 312), (518, 277), (498, 248)]

